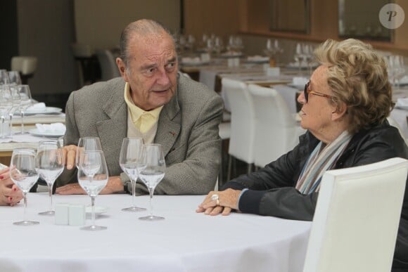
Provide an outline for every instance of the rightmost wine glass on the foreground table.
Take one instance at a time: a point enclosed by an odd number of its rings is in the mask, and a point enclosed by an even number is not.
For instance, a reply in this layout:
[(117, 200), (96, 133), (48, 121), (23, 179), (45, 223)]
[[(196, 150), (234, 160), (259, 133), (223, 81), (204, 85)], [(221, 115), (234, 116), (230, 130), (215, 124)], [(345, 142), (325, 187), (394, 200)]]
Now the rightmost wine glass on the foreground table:
[(139, 168), (139, 178), (148, 188), (150, 195), (150, 215), (139, 217), (141, 220), (156, 221), (165, 219), (161, 216), (153, 215), (152, 198), (155, 187), (165, 176), (166, 162), (162, 152), (162, 145), (151, 143), (144, 145), (141, 155), (141, 167)]

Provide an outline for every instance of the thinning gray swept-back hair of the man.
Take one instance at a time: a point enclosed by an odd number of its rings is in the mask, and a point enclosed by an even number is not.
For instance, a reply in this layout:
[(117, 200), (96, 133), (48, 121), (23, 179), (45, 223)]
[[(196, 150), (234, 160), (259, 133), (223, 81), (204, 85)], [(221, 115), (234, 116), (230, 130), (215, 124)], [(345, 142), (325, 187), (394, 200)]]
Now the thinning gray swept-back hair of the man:
[(140, 37), (148, 37), (151, 35), (161, 35), (163, 33), (169, 34), (172, 38), (174, 43), (174, 48), (176, 48), (176, 43), (174, 37), (170, 33), (167, 28), (165, 28), (160, 22), (156, 22), (155, 20), (149, 19), (141, 19), (135, 22), (131, 22), (125, 29), (122, 31), (120, 35), (120, 58), (125, 63), (127, 70), (129, 69), (129, 40), (132, 38), (133, 35), (137, 35)]

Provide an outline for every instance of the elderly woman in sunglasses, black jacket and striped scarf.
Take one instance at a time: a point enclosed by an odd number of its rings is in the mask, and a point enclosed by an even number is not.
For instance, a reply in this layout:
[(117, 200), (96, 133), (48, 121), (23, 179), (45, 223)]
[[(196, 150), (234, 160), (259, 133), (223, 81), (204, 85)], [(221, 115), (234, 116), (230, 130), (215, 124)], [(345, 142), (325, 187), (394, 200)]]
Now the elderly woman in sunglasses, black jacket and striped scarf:
[[(305, 91), (300, 143), (259, 171), (229, 181), (197, 212), (227, 215), (231, 210), (312, 220), (324, 171), (408, 158), (408, 148), (387, 117), (392, 89), (383, 58), (355, 39), (328, 40), (315, 51), (321, 64)], [(407, 186), (408, 189), (408, 186)], [(408, 193), (405, 191), (393, 271), (408, 268)]]

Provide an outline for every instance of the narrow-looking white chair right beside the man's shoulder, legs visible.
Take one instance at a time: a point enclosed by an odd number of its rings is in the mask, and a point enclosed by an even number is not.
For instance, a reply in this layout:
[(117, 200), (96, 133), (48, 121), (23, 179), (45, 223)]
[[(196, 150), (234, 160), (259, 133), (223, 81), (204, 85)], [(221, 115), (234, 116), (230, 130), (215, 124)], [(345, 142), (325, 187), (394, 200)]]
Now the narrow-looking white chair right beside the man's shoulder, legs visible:
[(248, 173), (253, 164), (253, 141), (255, 134), (253, 101), (245, 83), (234, 79), (222, 79), (222, 92), (231, 106), (231, 138), (229, 139), (228, 176), (231, 179), (231, 156), (248, 164)]

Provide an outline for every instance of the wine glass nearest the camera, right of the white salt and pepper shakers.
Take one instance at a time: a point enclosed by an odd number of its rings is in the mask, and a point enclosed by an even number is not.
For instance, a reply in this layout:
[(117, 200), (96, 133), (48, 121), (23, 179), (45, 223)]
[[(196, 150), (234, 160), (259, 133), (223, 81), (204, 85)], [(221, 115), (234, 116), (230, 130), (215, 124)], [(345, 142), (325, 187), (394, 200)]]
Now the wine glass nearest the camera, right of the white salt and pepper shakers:
[(95, 198), (108, 183), (108, 167), (101, 150), (84, 150), (79, 157), (78, 183), (91, 197), (92, 224), (84, 231), (101, 231), (106, 226), (95, 225)]

